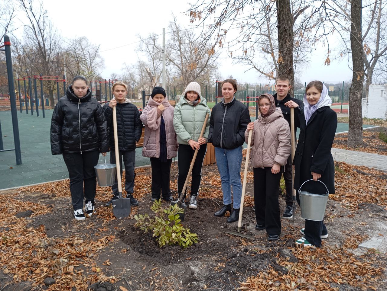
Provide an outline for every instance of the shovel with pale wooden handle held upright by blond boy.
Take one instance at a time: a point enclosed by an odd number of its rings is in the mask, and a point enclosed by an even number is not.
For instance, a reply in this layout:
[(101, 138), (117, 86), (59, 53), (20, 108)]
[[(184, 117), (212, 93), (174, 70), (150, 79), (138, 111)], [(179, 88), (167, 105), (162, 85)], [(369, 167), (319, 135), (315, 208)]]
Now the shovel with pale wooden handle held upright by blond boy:
[(118, 138), (117, 138), (117, 114), (116, 107), (113, 107), (113, 131), (114, 131), (114, 149), (116, 153), (116, 169), (118, 183), (118, 199), (112, 201), (113, 214), (117, 219), (127, 218), (130, 215), (130, 198), (122, 198), (121, 187), (121, 167), (120, 156), (118, 154)]

